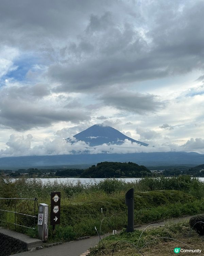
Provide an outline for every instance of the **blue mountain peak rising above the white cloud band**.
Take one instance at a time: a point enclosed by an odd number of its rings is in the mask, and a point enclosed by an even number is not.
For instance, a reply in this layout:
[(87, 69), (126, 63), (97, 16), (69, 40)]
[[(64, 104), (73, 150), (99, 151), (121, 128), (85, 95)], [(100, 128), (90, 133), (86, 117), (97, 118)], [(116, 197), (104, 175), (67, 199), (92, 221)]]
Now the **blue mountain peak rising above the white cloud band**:
[[(124, 142), (125, 139), (136, 142), (143, 146), (148, 146), (147, 143), (134, 140), (128, 136), (125, 136), (123, 133), (114, 129), (113, 127), (106, 126), (104, 124), (93, 125), (88, 129), (75, 134), (73, 137), (77, 140), (89, 143), (90, 146), (102, 145), (104, 143), (120, 145)], [(70, 138), (67, 138), (66, 140), (70, 141)]]

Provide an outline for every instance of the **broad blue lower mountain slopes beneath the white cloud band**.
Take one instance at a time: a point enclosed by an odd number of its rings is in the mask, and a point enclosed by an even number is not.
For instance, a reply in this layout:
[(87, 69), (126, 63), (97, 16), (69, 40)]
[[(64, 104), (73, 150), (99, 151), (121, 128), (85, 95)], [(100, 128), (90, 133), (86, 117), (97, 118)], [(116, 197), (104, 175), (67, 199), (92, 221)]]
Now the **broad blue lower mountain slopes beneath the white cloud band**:
[(19, 156), (0, 158), (0, 169), (66, 168), (70, 165), (96, 165), (98, 162), (134, 162), (144, 166), (196, 166), (204, 155), (195, 152), (156, 152), (131, 154), (71, 154), (55, 156)]

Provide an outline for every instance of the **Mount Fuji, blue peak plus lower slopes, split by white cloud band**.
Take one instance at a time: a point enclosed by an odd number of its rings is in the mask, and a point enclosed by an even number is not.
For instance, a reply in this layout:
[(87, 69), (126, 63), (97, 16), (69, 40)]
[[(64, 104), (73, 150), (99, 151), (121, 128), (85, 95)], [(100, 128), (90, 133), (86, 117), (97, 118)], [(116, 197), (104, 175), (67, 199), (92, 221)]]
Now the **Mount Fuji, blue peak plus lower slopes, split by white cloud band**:
[[(75, 140), (67, 138), (67, 142), (84, 141), (89, 146), (117, 144), (120, 145), (125, 139), (136, 142), (142, 146), (148, 146), (144, 142), (134, 140), (118, 130), (104, 124), (93, 125), (88, 129), (73, 136)], [(145, 166), (176, 166), (188, 165), (195, 166), (204, 163), (204, 155), (195, 152), (152, 152), (152, 153), (98, 153), (89, 154), (74, 153), (66, 155), (31, 155), (18, 157), (0, 158), (0, 169), (19, 169), (19, 168), (67, 168), (67, 166), (97, 164), (98, 162), (135, 162)]]

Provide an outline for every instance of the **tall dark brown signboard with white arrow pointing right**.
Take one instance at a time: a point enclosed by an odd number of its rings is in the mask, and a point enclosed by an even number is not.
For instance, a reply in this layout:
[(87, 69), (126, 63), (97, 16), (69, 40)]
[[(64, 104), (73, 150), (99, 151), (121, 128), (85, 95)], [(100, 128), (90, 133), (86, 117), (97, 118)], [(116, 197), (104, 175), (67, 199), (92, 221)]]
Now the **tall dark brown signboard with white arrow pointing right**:
[(60, 224), (60, 192), (51, 192), (50, 225)]

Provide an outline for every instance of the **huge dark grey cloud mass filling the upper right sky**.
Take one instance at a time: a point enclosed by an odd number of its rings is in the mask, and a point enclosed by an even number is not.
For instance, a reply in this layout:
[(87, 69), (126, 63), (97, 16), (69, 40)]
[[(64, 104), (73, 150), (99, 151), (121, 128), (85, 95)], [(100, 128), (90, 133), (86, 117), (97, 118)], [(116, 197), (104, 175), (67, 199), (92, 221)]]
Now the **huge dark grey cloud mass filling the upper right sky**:
[(146, 7), (146, 15), (151, 13), (149, 20), (143, 14), (146, 24), (140, 18), (118, 21), (114, 10), (91, 15), (75, 46), (87, 41), (94, 46), (81, 61), (50, 66), (48, 77), (61, 83), (56, 90), (92, 91), (203, 69), (204, 2), (179, 6), (176, 1), (155, 1)]

